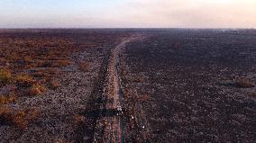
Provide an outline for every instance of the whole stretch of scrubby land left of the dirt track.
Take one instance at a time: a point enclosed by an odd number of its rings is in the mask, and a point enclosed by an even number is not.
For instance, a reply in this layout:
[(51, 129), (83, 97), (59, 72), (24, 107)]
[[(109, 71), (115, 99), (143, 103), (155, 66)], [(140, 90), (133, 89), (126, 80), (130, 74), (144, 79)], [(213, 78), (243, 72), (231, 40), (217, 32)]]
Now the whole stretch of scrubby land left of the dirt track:
[(110, 49), (126, 36), (1, 31), (0, 142), (90, 142), (96, 119), (85, 112), (96, 108)]

